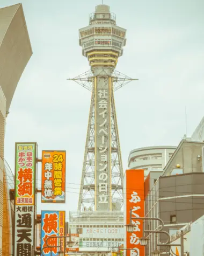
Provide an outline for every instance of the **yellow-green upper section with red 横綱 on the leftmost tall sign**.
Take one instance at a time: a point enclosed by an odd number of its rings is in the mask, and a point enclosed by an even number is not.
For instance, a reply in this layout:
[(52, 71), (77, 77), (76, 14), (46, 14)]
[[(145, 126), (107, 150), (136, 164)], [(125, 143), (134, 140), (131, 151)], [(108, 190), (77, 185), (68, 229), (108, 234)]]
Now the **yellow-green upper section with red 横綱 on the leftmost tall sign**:
[(16, 205), (34, 205), (35, 158), (35, 143), (16, 143)]

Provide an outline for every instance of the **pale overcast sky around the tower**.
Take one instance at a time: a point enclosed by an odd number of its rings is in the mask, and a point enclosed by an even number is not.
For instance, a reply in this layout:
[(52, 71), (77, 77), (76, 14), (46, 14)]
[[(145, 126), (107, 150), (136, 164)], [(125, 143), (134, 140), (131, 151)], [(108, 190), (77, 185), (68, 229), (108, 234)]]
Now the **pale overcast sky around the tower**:
[[(1, 0), (0, 8), (19, 3)], [(6, 119), (5, 159), (14, 170), (14, 143), (67, 151), (67, 201), (77, 210), (91, 93), (67, 78), (89, 70), (78, 29), (100, 0), (23, 0), (33, 55), (18, 83)], [(123, 169), (129, 151), (177, 146), (204, 116), (203, 0), (104, 0), (127, 29), (117, 71), (138, 78), (115, 92)], [(41, 185), (41, 165), (38, 166)], [(42, 209), (53, 205), (40, 204)]]

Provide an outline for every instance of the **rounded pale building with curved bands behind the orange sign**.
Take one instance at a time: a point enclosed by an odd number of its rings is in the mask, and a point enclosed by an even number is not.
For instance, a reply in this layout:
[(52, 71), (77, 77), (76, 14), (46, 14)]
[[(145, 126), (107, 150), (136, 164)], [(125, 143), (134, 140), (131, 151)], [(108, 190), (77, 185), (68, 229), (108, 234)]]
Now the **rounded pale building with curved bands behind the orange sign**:
[(147, 177), (150, 171), (162, 171), (177, 147), (156, 146), (137, 148), (129, 153), (128, 168), (143, 169)]

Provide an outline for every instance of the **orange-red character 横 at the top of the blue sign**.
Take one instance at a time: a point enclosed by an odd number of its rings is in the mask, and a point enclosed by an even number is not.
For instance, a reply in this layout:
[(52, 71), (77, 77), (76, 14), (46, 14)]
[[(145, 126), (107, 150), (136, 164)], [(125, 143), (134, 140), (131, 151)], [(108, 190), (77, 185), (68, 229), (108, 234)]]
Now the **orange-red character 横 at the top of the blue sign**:
[(48, 234), (51, 233), (52, 231), (57, 233), (57, 220), (58, 216), (56, 213), (46, 213), (45, 217), (43, 218), (42, 229)]

